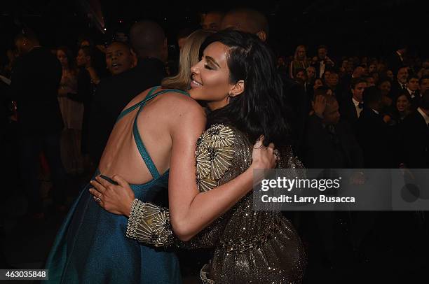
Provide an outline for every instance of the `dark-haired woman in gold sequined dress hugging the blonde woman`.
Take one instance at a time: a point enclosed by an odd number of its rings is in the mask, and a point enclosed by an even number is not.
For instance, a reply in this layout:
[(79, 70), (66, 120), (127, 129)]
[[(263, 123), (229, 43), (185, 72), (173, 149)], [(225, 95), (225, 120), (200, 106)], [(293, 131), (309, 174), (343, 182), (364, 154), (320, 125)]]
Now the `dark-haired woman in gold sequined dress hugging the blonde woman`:
[[(266, 145), (283, 146), (278, 166), (301, 167), (285, 145), (288, 129), (280, 99), (282, 85), (266, 45), (250, 34), (222, 31), (207, 38), (203, 48), (202, 59), (191, 68), (189, 90), (193, 99), (207, 101), (211, 110), (207, 130), (197, 141), (198, 190), (210, 192), (246, 171), (252, 162), (252, 145), (261, 134)], [(109, 192), (124, 191), (111, 185), (95, 187), (106, 198)], [(154, 246), (213, 247), (212, 261), (200, 274), (203, 283), (302, 281), (306, 262), (297, 232), (278, 211), (253, 211), (252, 192), (187, 243), (172, 240), (165, 229), (168, 222), (163, 222), (168, 219), (165, 211), (146, 206), (132, 206), (130, 237)]]

